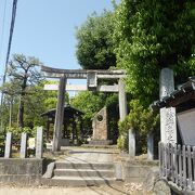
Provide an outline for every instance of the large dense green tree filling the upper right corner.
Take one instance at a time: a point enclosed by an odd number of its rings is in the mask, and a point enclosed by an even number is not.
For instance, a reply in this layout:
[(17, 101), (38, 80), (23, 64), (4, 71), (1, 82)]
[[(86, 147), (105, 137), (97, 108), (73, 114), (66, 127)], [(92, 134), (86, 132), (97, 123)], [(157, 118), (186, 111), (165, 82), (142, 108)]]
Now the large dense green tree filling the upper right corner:
[(194, 74), (194, 1), (122, 0), (115, 12), (117, 66), (127, 69), (127, 89), (148, 106), (158, 99), (158, 77), (171, 67), (176, 80)]

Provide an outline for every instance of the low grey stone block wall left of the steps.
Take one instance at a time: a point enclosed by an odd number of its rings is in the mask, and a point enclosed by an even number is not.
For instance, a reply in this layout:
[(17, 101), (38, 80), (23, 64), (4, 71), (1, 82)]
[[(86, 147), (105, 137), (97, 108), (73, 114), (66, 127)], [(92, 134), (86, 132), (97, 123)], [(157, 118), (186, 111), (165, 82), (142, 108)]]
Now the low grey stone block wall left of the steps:
[(36, 158), (0, 158), (0, 182), (38, 185), (44, 172), (43, 162)]

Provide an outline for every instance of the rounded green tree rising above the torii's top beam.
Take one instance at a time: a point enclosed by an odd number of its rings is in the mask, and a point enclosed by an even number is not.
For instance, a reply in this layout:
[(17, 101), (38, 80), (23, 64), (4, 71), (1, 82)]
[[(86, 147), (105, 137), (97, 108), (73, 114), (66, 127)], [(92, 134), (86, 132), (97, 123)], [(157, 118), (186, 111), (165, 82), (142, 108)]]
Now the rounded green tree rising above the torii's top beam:
[(116, 66), (113, 36), (113, 13), (95, 13), (77, 29), (77, 60), (84, 69), (108, 69)]

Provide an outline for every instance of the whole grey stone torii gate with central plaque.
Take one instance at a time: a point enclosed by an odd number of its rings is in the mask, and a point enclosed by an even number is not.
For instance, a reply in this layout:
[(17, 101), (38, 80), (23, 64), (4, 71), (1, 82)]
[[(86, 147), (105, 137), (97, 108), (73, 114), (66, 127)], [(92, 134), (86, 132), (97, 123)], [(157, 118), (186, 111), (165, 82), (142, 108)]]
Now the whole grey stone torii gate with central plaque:
[[(68, 91), (84, 91), (84, 90), (96, 90), (102, 92), (118, 92), (119, 93), (119, 115), (120, 120), (127, 116), (127, 96), (125, 91), (125, 84), (122, 79), (126, 77), (123, 70), (92, 70), (92, 69), (58, 69), (51, 68), (48, 66), (41, 66), (41, 72), (47, 78), (58, 78), (60, 83), (57, 84), (46, 84), (46, 90), (58, 90), (57, 93), (57, 105), (54, 123), (53, 134), (53, 147), (52, 151), (60, 151), (60, 139), (61, 130), (64, 118), (64, 102), (65, 92)], [(87, 79), (86, 84), (67, 84), (67, 79)], [(118, 84), (113, 86), (100, 86), (98, 84), (99, 79), (115, 79), (118, 80)]]

